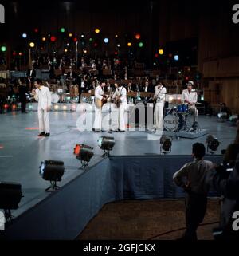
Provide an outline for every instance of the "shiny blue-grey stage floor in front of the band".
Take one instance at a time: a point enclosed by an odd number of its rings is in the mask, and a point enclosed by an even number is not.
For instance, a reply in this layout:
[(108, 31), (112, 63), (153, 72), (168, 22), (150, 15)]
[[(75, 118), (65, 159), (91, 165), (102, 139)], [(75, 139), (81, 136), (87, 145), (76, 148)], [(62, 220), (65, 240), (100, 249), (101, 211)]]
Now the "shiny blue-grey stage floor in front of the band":
[[(15, 215), (21, 214), (31, 205), (44, 199), (44, 189), (49, 183), (41, 179), (39, 166), (42, 160), (62, 160), (65, 163), (64, 183), (68, 183), (82, 170), (80, 161), (73, 155), (76, 144), (84, 143), (94, 147), (90, 165), (98, 163), (102, 151), (97, 145), (99, 136), (114, 136), (116, 145), (112, 155), (159, 155), (159, 140), (148, 140), (148, 132), (79, 132), (76, 128), (77, 112), (50, 112), (51, 136), (38, 138), (37, 112), (22, 114), (11, 112), (0, 115), (0, 181), (22, 183), (24, 198)], [(208, 129), (221, 142), (218, 153), (227, 147), (235, 137), (236, 128), (221, 123), (216, 117), (198, 116), (201, 128)], [(171, 155), (190, 155), (194, 142), (205, 143), (206, 136), (197, 139), (173, 140)]]

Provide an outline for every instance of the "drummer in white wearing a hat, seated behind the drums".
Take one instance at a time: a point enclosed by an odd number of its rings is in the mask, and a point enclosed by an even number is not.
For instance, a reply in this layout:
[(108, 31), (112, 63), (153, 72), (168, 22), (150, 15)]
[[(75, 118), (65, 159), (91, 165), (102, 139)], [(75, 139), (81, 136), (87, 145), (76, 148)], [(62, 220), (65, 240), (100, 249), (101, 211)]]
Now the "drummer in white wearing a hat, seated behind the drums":
[(187, 104), (190, 111), (194, 113), (194, 123), (198, 120), (198, 109), (195, 104), (198, 101), (198, 94), (193, 89), (194, 82), (188, 81), (187, 89), (182, 91), (182, 104)]

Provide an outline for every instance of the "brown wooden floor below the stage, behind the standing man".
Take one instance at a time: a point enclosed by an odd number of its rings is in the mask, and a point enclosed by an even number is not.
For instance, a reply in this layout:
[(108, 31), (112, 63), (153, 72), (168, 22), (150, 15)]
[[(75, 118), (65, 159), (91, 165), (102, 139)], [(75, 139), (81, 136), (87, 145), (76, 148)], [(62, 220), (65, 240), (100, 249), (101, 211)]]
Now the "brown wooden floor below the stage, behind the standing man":
[[(210, 199), (203, 223), (219, 219), (219, 201)], [(200, 226), (198, 239), (213, 239), (212, 228)], [(79, 235), (78, 239), (177, 239), (185, 227), (184, 201), (133, 200), (108, 203)], [(160, 235), (161, 234), (161, 235)], [(163, 235), (162, 235), (163, 234)]]

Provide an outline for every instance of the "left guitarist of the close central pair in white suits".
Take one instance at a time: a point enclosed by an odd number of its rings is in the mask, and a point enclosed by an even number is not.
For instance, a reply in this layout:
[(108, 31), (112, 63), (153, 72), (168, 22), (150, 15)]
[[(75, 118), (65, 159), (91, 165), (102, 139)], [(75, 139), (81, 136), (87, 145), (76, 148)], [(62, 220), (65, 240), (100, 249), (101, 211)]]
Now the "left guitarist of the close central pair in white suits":
[[(102, 128), (102, 105), (107, 101), (107, 97), (104, 96), (105, 85), (105, 82), (101, 82), (95, 89), (95, 121), (93, 125), (93, 131), (95, 132), (100, 132)], [(99, 101), (101, 104), (96, 104)]]

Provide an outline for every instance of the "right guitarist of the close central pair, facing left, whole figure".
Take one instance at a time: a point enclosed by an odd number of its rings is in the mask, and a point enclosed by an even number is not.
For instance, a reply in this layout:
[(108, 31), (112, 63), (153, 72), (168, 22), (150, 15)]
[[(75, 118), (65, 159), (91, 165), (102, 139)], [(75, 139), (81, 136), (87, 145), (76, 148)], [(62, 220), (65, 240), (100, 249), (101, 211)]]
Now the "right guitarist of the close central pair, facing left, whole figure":
[(125, 132), (125, 113), (127, 110), (127, 90), (119, 82), (115, 83), (116, 91), (113, 94), (112, 98), (115, 101), (118, 112), (118, 132)]

